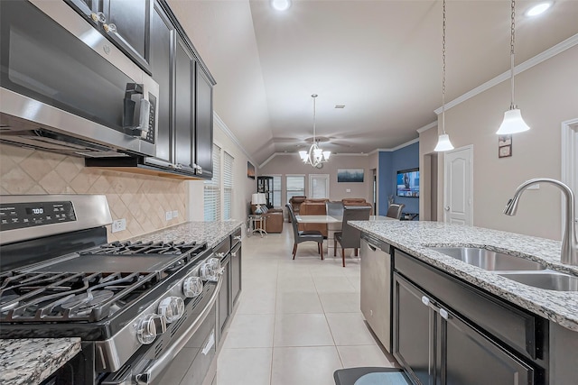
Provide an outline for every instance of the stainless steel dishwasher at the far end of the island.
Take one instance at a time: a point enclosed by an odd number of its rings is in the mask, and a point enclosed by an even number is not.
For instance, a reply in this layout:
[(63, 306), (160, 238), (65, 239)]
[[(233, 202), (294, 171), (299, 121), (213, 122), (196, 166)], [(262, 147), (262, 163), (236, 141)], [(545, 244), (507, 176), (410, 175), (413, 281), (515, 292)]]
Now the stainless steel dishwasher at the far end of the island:
[(391, 246), (361, 234), (361, 313), (391, 353)]

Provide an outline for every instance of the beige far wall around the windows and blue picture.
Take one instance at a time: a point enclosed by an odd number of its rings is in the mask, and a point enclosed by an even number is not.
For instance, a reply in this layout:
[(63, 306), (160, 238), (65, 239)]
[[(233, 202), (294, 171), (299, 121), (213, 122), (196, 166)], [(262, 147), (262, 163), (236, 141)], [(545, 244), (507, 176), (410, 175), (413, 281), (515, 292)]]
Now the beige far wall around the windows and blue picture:
[[(338, 169), (363, 169), (363, 183), (338, 183)], [(344, 197), (363, 197), (368, 202), (371, 201), (372, 173), (369, 171), (368, 155), (331, 155), (331, 159), (323, 164), (322, 169), (313, 169), (311, 166), (303, 164), (297, 153), (279, 154), (269, 160), (257, 173), (257, 175), (282, 175), (283, 177), (287, 174), (305, 175), (305, 195), (309, 195), (309, 174), (329, 174), (331, 200), (341, 200)], [(285, 204), (284, 179), (282, 179), (282, 188), (281, 199), (282, 203)], [(350, 189), (350, 192), (347, 192), (347, 189)]]

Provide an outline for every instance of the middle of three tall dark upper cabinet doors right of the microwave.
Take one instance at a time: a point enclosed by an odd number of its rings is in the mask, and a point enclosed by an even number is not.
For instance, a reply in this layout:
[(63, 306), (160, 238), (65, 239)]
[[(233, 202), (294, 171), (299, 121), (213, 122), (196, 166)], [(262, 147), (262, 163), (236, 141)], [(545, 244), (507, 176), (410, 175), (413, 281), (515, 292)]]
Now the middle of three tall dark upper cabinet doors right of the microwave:
[(175, 68), (175, 130), (174, 130), (174, 163), (183, 168), (192, 167), (192, 141), (193, 141), (193, 66), (190, 51), (185, 43), (179, 38), (176, 45), (176, 68)]

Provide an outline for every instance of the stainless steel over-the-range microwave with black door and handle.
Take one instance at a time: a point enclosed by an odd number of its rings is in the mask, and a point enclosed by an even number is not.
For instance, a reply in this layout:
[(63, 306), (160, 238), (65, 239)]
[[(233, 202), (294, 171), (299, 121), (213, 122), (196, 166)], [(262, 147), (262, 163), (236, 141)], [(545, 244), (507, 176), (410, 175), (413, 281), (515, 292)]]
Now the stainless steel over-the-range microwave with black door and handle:
[(0, 1), (0, 142), (155, 155), (159, 86), (64, 1)]

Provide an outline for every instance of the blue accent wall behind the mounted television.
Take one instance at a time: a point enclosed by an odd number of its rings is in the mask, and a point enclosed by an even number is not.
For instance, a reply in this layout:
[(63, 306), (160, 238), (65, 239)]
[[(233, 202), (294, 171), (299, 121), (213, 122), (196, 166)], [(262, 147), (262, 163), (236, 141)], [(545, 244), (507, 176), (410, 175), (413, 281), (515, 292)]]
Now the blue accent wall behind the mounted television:
[(406, 205), (404, 207), (405, 213), (419, 213), (420, 198), (396, 196), (397, 171), (418, 167), (419, 142), (415, 142), (396, 151), (379, 152), (379, 215), (387, 214), (387, 197), (389, 196), (394, 197), (394, 203), (403, 203)]

